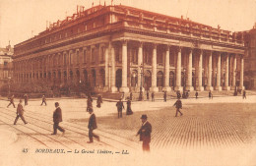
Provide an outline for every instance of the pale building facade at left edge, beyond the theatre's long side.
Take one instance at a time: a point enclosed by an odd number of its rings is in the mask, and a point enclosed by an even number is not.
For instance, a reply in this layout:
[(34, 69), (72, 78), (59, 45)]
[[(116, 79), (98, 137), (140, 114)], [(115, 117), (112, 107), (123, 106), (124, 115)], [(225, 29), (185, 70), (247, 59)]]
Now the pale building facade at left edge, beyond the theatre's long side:
[(14, 49), (10, 43), (5, 48), (0, 48), (0, 87), (10, 83), (13, 78), (13, 54)]

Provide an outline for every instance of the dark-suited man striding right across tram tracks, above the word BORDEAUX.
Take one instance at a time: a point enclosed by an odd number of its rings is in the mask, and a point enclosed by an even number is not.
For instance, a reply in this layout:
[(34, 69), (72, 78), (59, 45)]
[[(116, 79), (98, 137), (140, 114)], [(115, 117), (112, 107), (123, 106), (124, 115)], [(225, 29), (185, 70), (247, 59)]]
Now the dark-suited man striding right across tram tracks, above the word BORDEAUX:
[(62, 136), (65, 135), (65, 130), (59, 126), (59, 123), (62, 122), (62, 112), (59, 107), (59, 103), (55, 102), (55, 111), (53, 112), (53, 134), (51, 135), (57, 135), (57, 130), (62, 132)]

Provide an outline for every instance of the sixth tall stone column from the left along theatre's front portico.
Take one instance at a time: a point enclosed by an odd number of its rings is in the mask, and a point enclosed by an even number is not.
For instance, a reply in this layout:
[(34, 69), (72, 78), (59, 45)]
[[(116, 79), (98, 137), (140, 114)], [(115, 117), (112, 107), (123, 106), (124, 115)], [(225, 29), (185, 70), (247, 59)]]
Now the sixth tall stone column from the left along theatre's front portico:
[(188, 64), (187, 64), (187, 82), (186, 82), (186, 90), (193, 91), (194, 87), (192, 85), (192, 53), (193, 49), (188, 49)]

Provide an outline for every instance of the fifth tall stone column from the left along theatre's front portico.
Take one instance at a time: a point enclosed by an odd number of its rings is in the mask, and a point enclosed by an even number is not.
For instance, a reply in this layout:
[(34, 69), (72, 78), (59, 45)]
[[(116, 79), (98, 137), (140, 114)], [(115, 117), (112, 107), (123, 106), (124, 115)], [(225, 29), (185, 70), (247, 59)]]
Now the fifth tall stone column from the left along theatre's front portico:
[(176, 63), (176, 85), (175, 90), (183, 90), (183, 87), (181, 86), (181, 50), (182, 47), (177, 48), (177, 63)]

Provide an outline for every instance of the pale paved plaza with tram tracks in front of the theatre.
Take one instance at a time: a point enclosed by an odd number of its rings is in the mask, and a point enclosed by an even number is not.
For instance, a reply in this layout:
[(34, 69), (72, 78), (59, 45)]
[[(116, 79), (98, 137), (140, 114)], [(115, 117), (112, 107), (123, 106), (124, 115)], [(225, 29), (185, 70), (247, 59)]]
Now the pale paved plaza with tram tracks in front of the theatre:
[[(94, 108), (97, 127), (95, 133), (100, 141), (88, 144), (88, 119), (86, 111), (87, 99), (77, 98), (49, 98), (47, 106), (40, 106), (40, 99), (31, 99), (25, 106), (25, 118), (29, 122), (24, 125), (21, 120), (13, 125), (16, 117), (16, 108), (8, 105), (7, 100), (0, 100), (0, 131), (1, 151), (13, 155), (24, 155), (24, 148), (29, 149), (27, 155), (36, 157), (36, 148), (65, 149), (67, 158), (76, 158), (75, 149), (87, 149), (87, 152), (98, 149), (103, 153), (113, 153), (109, 161), (115, 162), (117, 155), (128, 151), (127, 157), (118, 157), (118, 160), (136, 160), (136, 163), (146, 165), (161, 164), (171, 161), (174, 165), (253, 165), (253, 156), (256, 154), (256, 96), (223, 96), (214, 99), (190, 98), (182, 99), (183, 116), (174, 117), (173, 104), (176, 99), (167, 102), (162, 99), (152, 101), (132, 102), (133, 115), (117, 118), (115, 102), (103, 101), (101, 108)], [(66, 129), (64, 137), (59, 133), (51, 136), (52, 113), (54, 102), (58, 101), (63, 112), (61, 127)], [(18, 103), (18, 99), (15, 100)], [(125, 103), (126, 108), (126, 103)], [(148, 121), (153, 126), (151, 154), (140, 155), (141, 142), (136, 133), (141, 126), (140, 117), (148, 115)], [(3, 134), (3, 135), (2, 135)], [(13, 147), (13, 148), (10, 148)], [(3, 150), (8, 149), (8, 150)], [(90, 151), (91, 150), (91, 151)], [(10, 152), (10, 151), (9, 151)], [(1, 153), (1, 155), (5, 155)], [(100, 153), (100, 151), (99, 151)], [(41, 155), (39, 155), (41, 156)], [(97, 155), (87, 155), (96, 159)], [(151, 156), (151, 157), (149, 157)], [(154, 157), (153, 157), (154, 156)], [(46, 159), (50, 157), (46, 154)], [(102, 156), (100, 156), (101, 158)], [(144, 158), (145, 157), (145, 158)], [(148, 158), (146, 158), (148, 157)], [(20, 157), (21, 158), (21, 157)], [(142, 161), (142, 158), (147, 162)], [(10, 158), (9, 158), (10, 159)], [(8, 160), (8, 158), (7, 158)], [(34, 159), (35, 160), (35, 159)], [(20, 163), (16, 161), (19, 165)], [(16, 163), (14, 162), (14, 163)], [(24, 161), (25, 162), (25, 161)], [(5, 161), (0, 161), (4, 165)], [(25, 162), (26, 163), (26, 162)], [(56, 160), (57, 163), (57, 160)], [(100, 165), (100, 164), (99, 164)]]

